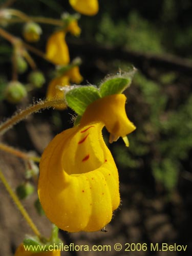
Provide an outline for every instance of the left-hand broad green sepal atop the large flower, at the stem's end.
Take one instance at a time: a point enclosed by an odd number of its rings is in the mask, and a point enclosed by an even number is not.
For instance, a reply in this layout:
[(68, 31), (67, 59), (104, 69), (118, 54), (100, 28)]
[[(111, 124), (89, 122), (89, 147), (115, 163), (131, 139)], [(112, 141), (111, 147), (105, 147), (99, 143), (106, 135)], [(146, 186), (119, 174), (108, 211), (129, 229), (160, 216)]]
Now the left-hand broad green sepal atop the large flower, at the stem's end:
[(80, 116), (86, 111), (89, 104), (99, 98), (99, 91), (93, 86), (78, 87), (66, 93), (68, 106)]

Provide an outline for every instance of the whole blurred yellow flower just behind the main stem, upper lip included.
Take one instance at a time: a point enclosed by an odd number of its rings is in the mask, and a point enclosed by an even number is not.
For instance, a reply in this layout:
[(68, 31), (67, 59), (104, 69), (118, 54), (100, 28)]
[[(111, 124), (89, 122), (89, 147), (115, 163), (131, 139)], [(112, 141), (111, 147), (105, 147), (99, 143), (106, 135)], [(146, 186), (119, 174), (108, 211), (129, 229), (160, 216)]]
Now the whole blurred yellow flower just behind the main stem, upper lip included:
[(52, 99), (63, 99), (62, 104), (58, 104), (55, 109), (63, 110), (66, 109), (66, 103), (64, 101), (64, 92), (59, 89), (59, 87), (65, 87), (70, 85), (70, 81), (73, 83), (80, 83), (83, 77), (79, 73), (79, 67), (73, 67), (67, 71), (64, 75), (54, 78), (48, 86), (46, 98), (48, 100)]

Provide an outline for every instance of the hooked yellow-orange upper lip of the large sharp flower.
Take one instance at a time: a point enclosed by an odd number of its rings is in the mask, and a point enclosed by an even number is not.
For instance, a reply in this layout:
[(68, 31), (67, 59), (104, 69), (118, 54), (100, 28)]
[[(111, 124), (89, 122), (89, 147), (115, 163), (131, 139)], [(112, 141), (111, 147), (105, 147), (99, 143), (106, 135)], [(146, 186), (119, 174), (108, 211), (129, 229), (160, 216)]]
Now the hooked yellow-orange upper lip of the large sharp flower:
[(124, 94), (114, 94), (95, 100), (84, 112), (81, 125), (102, 122), (110, 133), (110, 143), (119, 137), (125, 137), (136, 129), (126, 116), (125, 101)]

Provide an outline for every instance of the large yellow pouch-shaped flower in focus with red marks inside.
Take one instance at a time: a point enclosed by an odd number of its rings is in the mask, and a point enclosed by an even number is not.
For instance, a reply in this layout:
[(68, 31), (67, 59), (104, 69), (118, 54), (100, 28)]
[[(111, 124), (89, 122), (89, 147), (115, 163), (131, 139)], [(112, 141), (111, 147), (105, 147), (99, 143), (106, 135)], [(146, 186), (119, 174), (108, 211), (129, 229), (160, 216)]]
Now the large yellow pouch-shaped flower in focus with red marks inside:
[(135, 130), (125, 100), (118, 94), (94, 101), (80, 125), (58, 134), (42, 154), (39, 199), (50, 221), (63, 230), (100, 230), (119, 206), (118, 171), (101, 131), (105, 125), (117, 138)]

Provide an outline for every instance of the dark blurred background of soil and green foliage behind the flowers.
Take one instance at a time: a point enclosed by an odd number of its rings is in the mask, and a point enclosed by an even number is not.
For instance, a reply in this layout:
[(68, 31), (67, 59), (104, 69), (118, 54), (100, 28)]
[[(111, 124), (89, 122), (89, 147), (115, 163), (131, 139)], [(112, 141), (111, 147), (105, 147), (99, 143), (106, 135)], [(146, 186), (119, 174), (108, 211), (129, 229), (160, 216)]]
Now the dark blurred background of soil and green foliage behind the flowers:
[[(1, 1), (3, 3), (5, 1)], [(74, 13), (68, 1), (17, 0), (11, 8), (32, 16), (59, 18), (64, 11)], [(79, 20), (79, 38), (67, 35), (71, 59), (80, 56), (80, 72), (87, 82), (99, 84), (108, 74), (137, 68), (127, 97), (127, 115), (137, 126), (129, 136), (130, 147), (123, 142), (109, 145), (119, 169), (121, 206), (115, 211), (108, 232), (60, 232), (64, 243), (168, 243), (187, 245), (186, 252), (132, 251), (65, 252), (65, 255), (191, 255), (191, 145), (192, 145), (192, 21), (191, 1), (121, 0), (100, 1), (99, 13)], [(33, 44), (45, 51), (54, 26), (42, 25), (40, 41)], [(22, 25), (6, 29), (22, 37)], [(34, 100), (45, 98), (54, 65), (31, 54), (46, 76), (46, 84), (29, 92), (28, 98), (15, 106), (4, 100), (6, 80), (11, 80), (12, 47), (0, 37), (1, 120)], [(27, 82), (30, 69), (19, 76)], [(1, 140), (23, 151), (39, 155), (55, 134), (71, 127), (71, 110), (46, 110), (20, 122)], [(106, 141), (108, 133), (103, 131)], [(15, 188), (24, 180), (23, 161), (1, 154), (1, 169)], [(30, 233), (23, 217), (0, 184), (0, 255), (13, 255), (25, 233)], [(35, 223), (49, 236), (50, 224), (38, 217), (33, 202), (24, 200)], [(124, 246), (125, 248), (125, 246)], [(64, 253), (63, 253), (64, 255)]]

